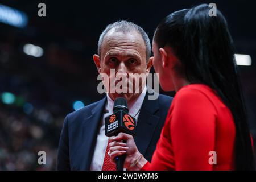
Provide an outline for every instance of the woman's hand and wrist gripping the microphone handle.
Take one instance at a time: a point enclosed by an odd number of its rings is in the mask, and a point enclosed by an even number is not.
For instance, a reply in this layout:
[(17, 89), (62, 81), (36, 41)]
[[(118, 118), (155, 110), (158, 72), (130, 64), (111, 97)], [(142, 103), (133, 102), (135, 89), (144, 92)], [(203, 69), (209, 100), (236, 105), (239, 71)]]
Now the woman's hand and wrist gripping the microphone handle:
[[(116, 137), (109, 137), (109, 142), (110, 162), (115, 163), (115, 157), (123, 154), (126, 154), (124, 168), (128, 170), (139, 170), (147, 162), (143, 157), (140, 158), (141, 153), (138, 151), (133, 136), (121, 132)], [(138, 164), (131, 167), (137, 159), (140, 159)]]

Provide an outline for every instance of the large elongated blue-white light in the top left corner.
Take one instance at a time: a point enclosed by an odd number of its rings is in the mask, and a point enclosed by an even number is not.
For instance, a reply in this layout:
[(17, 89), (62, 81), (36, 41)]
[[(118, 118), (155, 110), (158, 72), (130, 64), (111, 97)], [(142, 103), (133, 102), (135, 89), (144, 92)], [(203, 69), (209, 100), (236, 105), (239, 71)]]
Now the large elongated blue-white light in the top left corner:
[(27, 26), (28, 18), (22, 11), (0, 4), (0, 22), (14, 27), (24, 28)]

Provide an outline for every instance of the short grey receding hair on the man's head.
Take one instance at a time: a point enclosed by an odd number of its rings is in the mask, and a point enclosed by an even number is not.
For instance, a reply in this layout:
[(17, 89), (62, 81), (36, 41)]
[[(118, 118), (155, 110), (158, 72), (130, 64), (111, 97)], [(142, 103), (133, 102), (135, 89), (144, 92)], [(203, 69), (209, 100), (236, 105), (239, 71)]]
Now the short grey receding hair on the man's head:
[(112, 24), (109, 24), (105, 30), (101, 33), (100, 39), (98, 40), (98, 55), (101, 56), (101, 48), (102, 48), (102, 43), (104, 41), (104, 38), (108, 32), (112, 30), (114, 32), (123, 32), (124, 34), (131, 33), (133, 31), (138, 32), (143, 40), (144, 44), (146, 47), (146, 59), (150, 58), (151, 55), (151, 46), (150, 46), (150, 39), (148, 38), (148, 35), (146, 32), (143, 30), (142, 27), (139, 27), (137, 24), (134, 24), (132, 22), (127, 22), (127, 21), (118, 21)]

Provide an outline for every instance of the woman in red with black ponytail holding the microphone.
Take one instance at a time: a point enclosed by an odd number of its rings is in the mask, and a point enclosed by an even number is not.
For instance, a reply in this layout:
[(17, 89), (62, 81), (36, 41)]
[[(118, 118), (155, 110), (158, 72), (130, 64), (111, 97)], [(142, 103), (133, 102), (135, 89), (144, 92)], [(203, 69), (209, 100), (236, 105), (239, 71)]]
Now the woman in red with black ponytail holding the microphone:
[(156, 28), (154, 68), (176, 95), (151, 163), (124, 133), (109, 138), (112, 162), (125, 151), (129, 170), (254, 169), (233, 40), (221, 12), (209, 10), (176, 11)]

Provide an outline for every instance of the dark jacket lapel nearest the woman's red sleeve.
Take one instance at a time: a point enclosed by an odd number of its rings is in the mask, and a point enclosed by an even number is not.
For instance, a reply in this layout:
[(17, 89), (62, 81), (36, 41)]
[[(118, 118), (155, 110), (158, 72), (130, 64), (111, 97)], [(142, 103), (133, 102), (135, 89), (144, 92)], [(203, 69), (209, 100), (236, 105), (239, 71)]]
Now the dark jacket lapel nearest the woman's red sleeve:
[[(151, 92), (150, 92), (151, 93)], [(144, 98), (139, 118), (136, 126), (136, 135), (134, 141), (141, 154), (145, 155), (151, 138), (154, 134), (156, 126), (159, 122), (159, 117), (154, 115), (159, 110), (159, 101), (148, 100), (148, 92)]]

